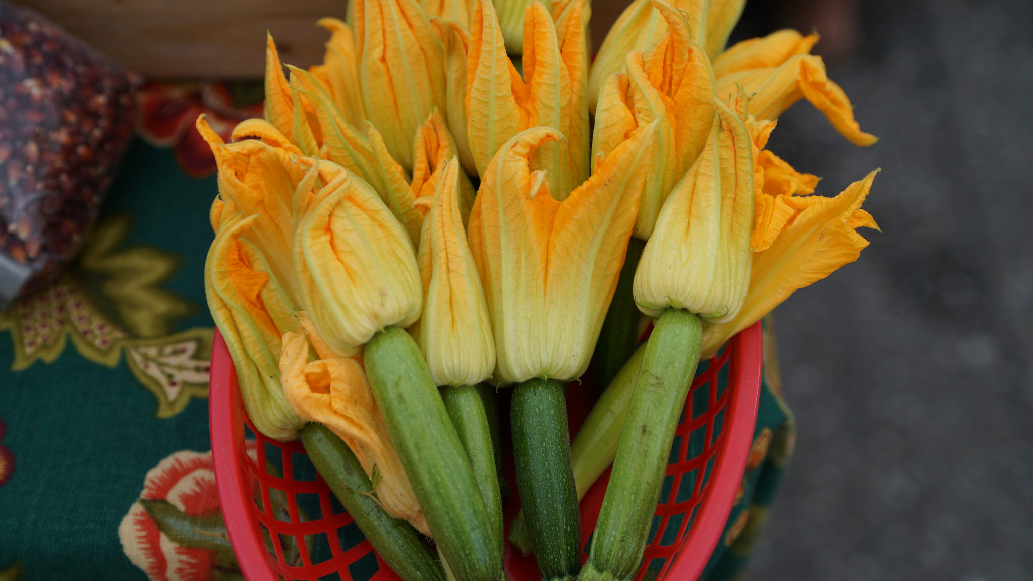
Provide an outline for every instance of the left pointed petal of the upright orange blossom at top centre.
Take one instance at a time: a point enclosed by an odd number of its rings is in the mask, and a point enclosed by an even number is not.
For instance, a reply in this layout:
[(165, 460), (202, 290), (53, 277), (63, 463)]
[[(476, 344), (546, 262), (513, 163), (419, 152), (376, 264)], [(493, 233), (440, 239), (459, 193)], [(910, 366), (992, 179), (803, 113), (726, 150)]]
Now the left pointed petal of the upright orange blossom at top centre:
[(476, 0), (473, 4), (466, 70), (468, 143), (477, 174), (483, 176), (502, 144), (520, 131), (522, 113), (515, 95), (526, 91), (524, 81), (506, 55), (490, 0)]

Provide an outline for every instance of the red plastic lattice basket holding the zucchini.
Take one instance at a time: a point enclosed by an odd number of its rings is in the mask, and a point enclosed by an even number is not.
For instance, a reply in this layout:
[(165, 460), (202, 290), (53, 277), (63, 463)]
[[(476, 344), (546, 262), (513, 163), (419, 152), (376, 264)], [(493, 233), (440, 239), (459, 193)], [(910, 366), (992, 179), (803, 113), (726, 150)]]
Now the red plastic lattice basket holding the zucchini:
[[(761, 368), (760, 324), (729, 341), (700, 369), (686, 400), (636, 579), (696, 579), (717, 545), (734, 503), (753, 439)], [(588, 414), (587, 390), (571, 384), (571, 429)], [(395, 581), (312, 468), (300, 441), (279, 442), (254, 431), (238, 390), (232, 361), (216, 333), (210, 395), (212, 457), (229, 541), (248, 581), (337, 579)], [(257, 454), (246, 452), (248, 432)], [(511, 460), (510, 460), (511, 461)], [(509, 489), (515, 491), (511, 464)], [(608, 470), (581, 502), (582, 545), (595, 528)], [(508, 502), (506, 532), (519, 508)], [(588, 558), (588, 553), (584, 554)], [(513, 581), (538, 581), (533, 556), (506, 543)]]

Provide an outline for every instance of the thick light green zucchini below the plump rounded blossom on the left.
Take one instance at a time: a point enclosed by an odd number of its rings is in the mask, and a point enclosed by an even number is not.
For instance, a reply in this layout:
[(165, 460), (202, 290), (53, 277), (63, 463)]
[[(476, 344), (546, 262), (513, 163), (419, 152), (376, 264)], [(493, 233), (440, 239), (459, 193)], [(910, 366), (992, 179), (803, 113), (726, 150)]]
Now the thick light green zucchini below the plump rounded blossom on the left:
[(370, 340), (364, 357), (387, 432), (455, 578), (504, 579), (473, 468), (416, 342), (388, 327)]

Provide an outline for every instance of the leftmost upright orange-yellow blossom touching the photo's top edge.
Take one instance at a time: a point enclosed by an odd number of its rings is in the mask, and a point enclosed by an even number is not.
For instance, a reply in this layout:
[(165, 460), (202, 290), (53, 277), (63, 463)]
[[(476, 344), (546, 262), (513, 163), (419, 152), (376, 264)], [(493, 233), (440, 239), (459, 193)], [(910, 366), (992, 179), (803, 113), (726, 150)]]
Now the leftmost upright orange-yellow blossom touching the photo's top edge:
[(445, 109), (444, 48), (416, 0), (354, 0), (363, 104), (387, 151), (412, 167), (412, 139)]

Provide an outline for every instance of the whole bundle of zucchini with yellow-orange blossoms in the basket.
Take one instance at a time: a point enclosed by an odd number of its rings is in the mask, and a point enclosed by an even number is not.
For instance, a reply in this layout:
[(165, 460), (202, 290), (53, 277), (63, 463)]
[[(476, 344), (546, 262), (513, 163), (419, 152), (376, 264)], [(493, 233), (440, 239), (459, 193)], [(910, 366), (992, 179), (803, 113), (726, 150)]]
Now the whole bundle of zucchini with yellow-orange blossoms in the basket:
[[(403, 579), (505, 578), (502, 397), (511, 542), (550, 581), (631, 579), (699, 358), (867, 245), (874, 174), (811, 195), (764, 147), (801, 98), (875, 139), (816, 35), (724, 50), (744, 1), (635, 0), (590, 65), (587, 0), (353, 0), (322, 64), (269, 39), (264, 119), (198, 120), (247, 411), (302, 438)], [(609, 387), (571, 449), (593, 358)], [(612, 462), (582, 569), (577, 500)]]

